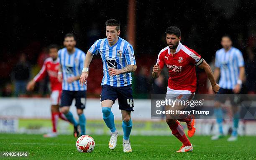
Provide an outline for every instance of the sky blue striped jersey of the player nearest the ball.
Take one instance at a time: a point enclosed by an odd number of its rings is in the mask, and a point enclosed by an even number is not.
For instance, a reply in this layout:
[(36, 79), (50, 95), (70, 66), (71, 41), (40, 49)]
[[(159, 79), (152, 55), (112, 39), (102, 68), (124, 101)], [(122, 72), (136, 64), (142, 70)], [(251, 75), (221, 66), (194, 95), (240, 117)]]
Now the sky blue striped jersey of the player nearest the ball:
[(107, 38), (97, 40), (89, 49), (92, 54), (100, 53), (103, 62), (103, 79), (101, 85), (127, 86), (132, 83), (131, 73), (110, 77), (108, 69), (122, 69), (136, 64), (133, 46), (122, 38), (114, 46), (108, 45)]

